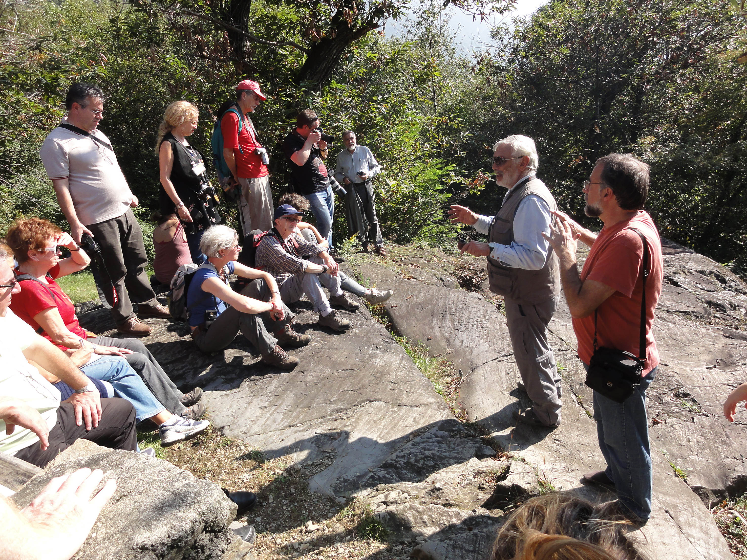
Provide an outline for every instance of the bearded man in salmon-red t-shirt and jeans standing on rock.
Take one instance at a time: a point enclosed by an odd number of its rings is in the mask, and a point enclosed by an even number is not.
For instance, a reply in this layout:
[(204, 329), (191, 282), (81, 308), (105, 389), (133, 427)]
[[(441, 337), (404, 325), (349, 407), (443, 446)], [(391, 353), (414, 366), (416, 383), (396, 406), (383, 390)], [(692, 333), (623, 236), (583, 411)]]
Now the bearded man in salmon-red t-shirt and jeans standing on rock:
[[(607, 468), (586, 473), (581, 479), (586, 484), (614, 489), (621, 513), (643, 524), (651, 517), (653, 484), (645, 391), (659, 365), (651, 324), (663, 276), (659, 233), (642, 210), (648, 196), (648, 165), (629, 154), (599, 158), (589, 181), (583, 184), (583, 193), (584, 212), (604, 223), (601, 231), (592, 233), (556, 212), (560, 220), (551, 226), (549, 236), (543, 235), (560, 259), (560, 280), (573, 317), (578, 356), (587, 369), (595, 349), (595, 332), (596, 347), (639, 355), (643, 243), (632, 228), (643, 234), (648, 245), (641, 383), (622, 403), (594, 391), (594, 419)], [(591, 247), (580, 275), (576, 265), (578, 240)]]

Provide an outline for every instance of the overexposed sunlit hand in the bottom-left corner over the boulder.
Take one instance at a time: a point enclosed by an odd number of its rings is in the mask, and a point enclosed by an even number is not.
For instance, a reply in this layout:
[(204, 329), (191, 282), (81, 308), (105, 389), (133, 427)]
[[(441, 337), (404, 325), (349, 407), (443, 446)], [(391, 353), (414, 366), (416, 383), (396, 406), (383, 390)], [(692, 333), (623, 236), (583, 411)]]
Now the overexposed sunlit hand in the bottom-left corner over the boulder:
[(69, 559), (84, 543), (93, 523), (117, 489), (117, 482), (108, 480), (91, 498), (103, 478), (101, 470), (91, 472), (84, 468), (52, 479), (41, 494), (21, 510), (39, 535), (36, 544), (46, 549), (44, 558)]

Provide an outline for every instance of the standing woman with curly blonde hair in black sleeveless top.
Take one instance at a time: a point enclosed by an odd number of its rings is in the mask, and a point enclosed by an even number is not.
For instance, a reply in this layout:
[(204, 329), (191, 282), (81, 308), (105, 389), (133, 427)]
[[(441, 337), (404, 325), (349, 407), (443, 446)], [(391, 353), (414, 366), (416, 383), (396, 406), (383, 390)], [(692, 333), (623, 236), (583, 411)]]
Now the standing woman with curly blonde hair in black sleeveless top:
[(190, 102), (174, 102), (166, 108), (158, 128), (158, 167), (161, 214), (176, 214), (187, 234), (190, 255), (196, 263), (205, 261), (199, 250), (202, 233), (220, 223), (218, 202), (205, 169), (205, 158), (190, 146), (187, 136), (197, 128), (199, 111)]

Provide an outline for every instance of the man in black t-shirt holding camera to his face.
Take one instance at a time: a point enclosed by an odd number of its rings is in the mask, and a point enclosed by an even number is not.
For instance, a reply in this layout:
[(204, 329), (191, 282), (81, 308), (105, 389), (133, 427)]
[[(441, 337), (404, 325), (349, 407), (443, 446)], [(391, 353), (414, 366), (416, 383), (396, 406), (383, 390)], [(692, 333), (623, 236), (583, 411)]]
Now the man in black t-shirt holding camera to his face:
[[(296, 116), (296, 128), (283, 142), (285, 156), (291, 161), (291, 185), (311, 203), (311, 214), (317, 229), (329, 243), (329, 254), (335, 258), (332, 243), (332, 219), (335, 217), (335, 198), (324, 160), (329, 155), (327, 142), (332, 140), (319, 128), (317, 113), (304, 109)], [(337, 261), (338, 258), (335, 258)]]

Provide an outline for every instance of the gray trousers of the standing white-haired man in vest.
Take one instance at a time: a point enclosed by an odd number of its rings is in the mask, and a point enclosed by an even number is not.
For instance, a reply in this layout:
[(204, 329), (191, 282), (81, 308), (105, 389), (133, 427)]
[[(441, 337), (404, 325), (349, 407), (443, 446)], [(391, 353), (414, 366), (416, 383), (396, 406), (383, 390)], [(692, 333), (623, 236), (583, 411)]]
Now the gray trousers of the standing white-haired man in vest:
[(559, 298), (538, 305), (519, 305), (505, 300), (506, 323), (521, 381), (534, 404), (540, 421), (560, 423), (560, 376), (555, 357), (548, 343), (548, 323), (558, 306)]

